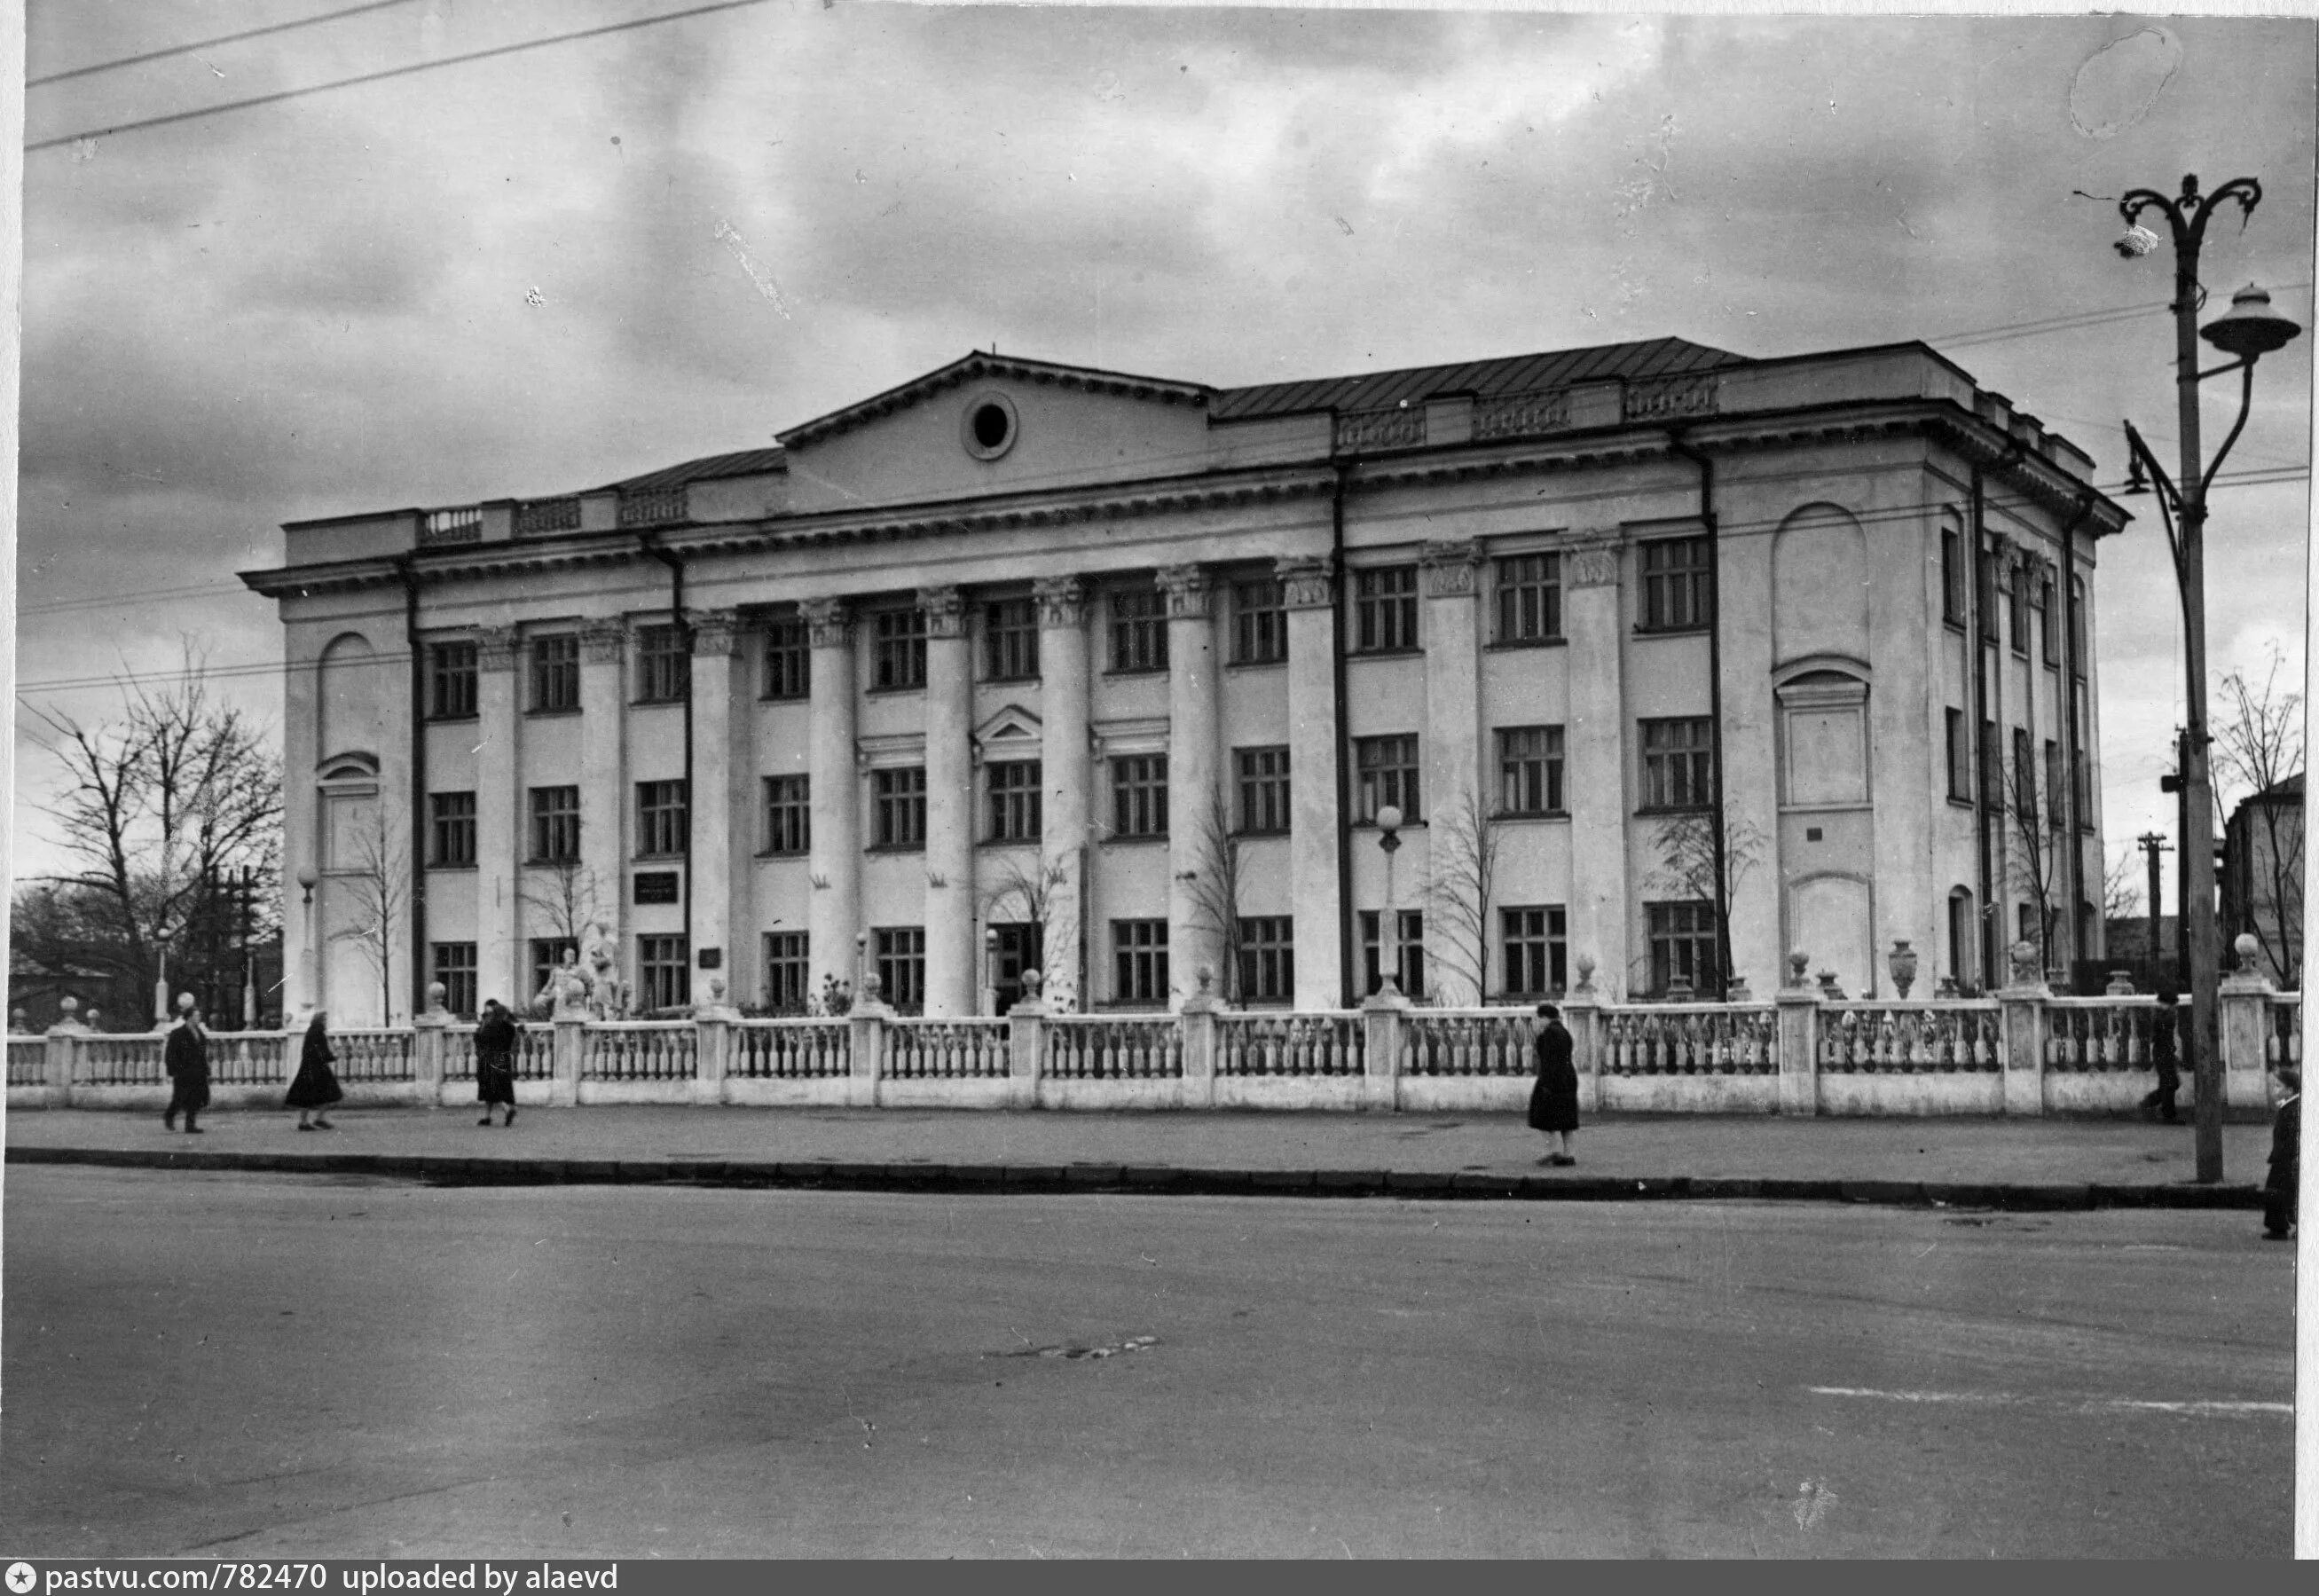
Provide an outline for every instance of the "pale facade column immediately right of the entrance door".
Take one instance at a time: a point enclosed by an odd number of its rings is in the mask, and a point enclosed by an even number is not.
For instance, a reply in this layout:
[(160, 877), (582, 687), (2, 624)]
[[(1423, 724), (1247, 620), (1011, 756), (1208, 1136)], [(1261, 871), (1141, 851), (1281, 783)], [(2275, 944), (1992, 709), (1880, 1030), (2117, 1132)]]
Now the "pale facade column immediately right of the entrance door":
[(1039, 958), (1046, 1004), (1069, 1014), (1085, 1004), (1081, 944), (1088, 868), (1088, 596), (1078, 578), (1041, 580), (1039, 598), (1039, 779), (1046, 884), (1046, 933)]

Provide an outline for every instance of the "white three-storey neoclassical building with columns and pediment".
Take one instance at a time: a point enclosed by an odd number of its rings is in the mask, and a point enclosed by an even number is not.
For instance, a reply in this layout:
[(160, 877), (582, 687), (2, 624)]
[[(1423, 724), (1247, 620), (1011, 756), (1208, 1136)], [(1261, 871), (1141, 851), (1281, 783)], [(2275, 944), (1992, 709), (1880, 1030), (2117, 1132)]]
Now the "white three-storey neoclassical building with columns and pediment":
[(1721, 926), (1758, 993), (2099, 953), (2124, 515), (1920, 343), (976, 353), (777, 441), (283, 529), (295, 1000), (529, 1000), (575, 940), (638, 1009), (874, 972), (928, 1014), (1027, 965), (1081, 1007), (1663, 993)]

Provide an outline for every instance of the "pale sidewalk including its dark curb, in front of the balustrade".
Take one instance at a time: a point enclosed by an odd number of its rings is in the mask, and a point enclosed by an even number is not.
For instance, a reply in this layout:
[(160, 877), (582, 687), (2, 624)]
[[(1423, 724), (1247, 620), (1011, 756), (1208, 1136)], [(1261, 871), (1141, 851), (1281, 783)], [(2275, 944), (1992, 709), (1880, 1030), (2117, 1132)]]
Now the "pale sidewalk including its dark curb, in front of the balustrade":
[(1598, 1116), (1542, 1169), (1514, 1113), (988, 1113), (914, 1109), (346, 1109), (295, 1116), (14, 1111), (9, 1162), (378, 1174), (431, 1183), (686, 1181), (853, 1190), (1134, 1190), (1535, 1199), (1779, 1197), (1971, 1206), (2261, 1206), (2266, 1125), (2224, 1125), (2222, 1185), (2189, 1125), (2080, 1118)]

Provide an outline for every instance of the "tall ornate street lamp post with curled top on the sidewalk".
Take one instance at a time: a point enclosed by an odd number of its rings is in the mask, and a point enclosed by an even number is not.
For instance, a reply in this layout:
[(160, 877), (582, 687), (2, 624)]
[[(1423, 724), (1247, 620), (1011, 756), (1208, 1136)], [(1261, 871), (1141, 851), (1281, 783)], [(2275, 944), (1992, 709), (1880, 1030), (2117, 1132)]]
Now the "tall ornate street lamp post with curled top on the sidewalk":
[[(2117, 253), (2133, 260), (2147, 255), (2159, 237), (2140, 225), (2143, 213), (2159, 211), (2173, 230), (2175, 248), (2175, 408), (2182, 431), (2182, 476), (2168, 478), (2166, 466), (2143, 443), (2143, 434), (2127, 422), (2127, 445), (2131, 471), (2127, 492), (2147, 492), (2143, 473), (2159, 487), (2159, 517), (2166, 541), (2173, 545), (2175, 580), (2182, 589), (2182, 670), (2184, 670), (2184, 717), (2182, 735), (2182, 898), (2187, 905), (2182, 940), (2189, 949), (2189, 1002), (2191, 1002), (2191, 1062), (2194, 1062), (2194, 1134), (2201, 1183), (2222, 1178), (2222, 1049), (2217, 1028), (2217, 988), (2222, 977), (2222, 930), (2215, 923), (2215, 784), (2208, 759), (2205, 731), (2205, 496), (2215, 485), (2231, 445), (2247, 425), (2254, 404), (2254, 362), (2293, 339), (2296, 327), (2284, 315), (2270, 311), (2270, 295), (2252, 283), (2231, 299), (2231, 311), (2205, 327), (2205, 339), (2224, 355), (2238, 360), (2212, 371), (2198, 371), (2198, 309), (2205, 290), (2198, 288), (2198, 246), (2205, 241), (2205, 223), (2224, 202), (2236, 202), (2240, 218), (2254, 213), (2263, 202), (2263, 186), (2249, 176), (2238, 176), (2210, 195), (2198, 193), (2198, 179), (2184, 176), (2182, 193), (2173, 200), (2136, 188), (2117, 202), (2117, 213), (2127, 218), (2127, 237), (2117, 241)], [(2238, 422), (2212, 464), (2201, 462), (2198, 448), (2198, 383), (2210, 376), (2240, 373)], [(2150, 909), (2157, 921), (2157, 905)]]

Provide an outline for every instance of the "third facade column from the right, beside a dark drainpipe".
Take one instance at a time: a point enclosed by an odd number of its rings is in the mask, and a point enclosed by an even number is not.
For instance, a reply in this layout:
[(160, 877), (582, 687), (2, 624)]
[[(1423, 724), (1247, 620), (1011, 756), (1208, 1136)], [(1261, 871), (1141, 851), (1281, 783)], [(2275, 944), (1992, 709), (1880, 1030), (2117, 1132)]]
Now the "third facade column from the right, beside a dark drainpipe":
[(1296, 1007), (1345, 1002), (1345, 909), (1338, 893), (1336, 568), (1326, 554), (1282, 559), (1289, 617), (1289, 886), (1296, 898)]

